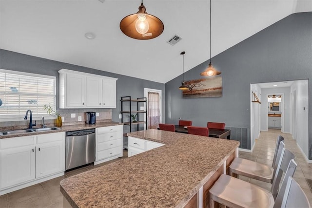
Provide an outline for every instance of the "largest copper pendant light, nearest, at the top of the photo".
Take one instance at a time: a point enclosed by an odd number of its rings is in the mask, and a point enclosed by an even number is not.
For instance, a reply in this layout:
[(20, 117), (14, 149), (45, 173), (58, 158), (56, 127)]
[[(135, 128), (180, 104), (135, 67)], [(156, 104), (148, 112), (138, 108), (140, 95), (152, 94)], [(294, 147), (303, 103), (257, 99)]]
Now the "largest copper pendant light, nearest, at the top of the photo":
[(126, 36), (139, 40), (156, 38), (164, 31), (162, 21), (147, 14), (143, 0), (138, 7), (138, 12), (121, 19), (119, 26)]

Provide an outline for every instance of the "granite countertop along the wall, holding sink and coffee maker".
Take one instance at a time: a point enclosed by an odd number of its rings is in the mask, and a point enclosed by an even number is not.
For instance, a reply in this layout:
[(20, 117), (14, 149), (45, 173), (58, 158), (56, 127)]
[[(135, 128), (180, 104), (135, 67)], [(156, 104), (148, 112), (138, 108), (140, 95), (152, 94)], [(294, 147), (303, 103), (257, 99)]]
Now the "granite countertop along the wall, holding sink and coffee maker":
[[(29, 135), (35, 135), (35, 134), (44, 134), (44, 133), (55, 133), (55, 132), (70, 132), (70, 131), (77, 131), (77, 130), (84, 130), (84, 129), (94, 129), (99, 127), (106, 127), (106, 126), (116, 126), (116, 125), (122, 125), (122, 123), (114, 122), (114, 121), (108, 121), (108, 122), (99, 122), (93, 125), (90, 124), (76, 124), (76, 125), (67, 125), (59, 127), (59, 130), (51, 130), (51, 131), (42, 131), (42, 132), (27, 132), (27, 133), (13, 133), (8, 135), (0, 135), (0, 139), (4, 138), (11, 138), (11, 137), (18, 137), (18, 136), (29, 136)], [(6, 127), (4, 130), (1, 130), (1, 132), (4, 131), (12, 131), (19, 129), (19, 127)]]

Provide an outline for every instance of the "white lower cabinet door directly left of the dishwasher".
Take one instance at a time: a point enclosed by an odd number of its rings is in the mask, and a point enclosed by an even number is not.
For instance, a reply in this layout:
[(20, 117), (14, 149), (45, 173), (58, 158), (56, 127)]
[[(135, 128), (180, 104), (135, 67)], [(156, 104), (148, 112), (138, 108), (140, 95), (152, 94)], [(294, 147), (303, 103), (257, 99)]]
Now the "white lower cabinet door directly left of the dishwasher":
[(36, 178), (65, 170), (63, 141), (37, 145)]

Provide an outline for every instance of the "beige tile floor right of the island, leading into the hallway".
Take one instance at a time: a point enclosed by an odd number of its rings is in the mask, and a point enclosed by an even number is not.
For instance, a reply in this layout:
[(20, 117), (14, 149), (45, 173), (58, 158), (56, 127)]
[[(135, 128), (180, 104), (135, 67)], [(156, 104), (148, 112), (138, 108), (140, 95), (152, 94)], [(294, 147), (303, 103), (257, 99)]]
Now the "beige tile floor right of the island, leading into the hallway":
[[(307, 163), (303, 153), (297, 147), (296, 141), (292, 139), (292, 135), (289, 133), (281, 133), (278, 129), (269, 129), (268, 132), (261, 132), (254, 146), (253, 152), (239, 151), (239, 157), (253, 160), (259, 163), (272, 165), (273, 155), (276, 146), (276, 138), (278, 135), (282, 135), (285, 138), (285, 147), (292, 151), (295, 155), (295, 162), (297, 168), (293, 178), (304, 190), (312, 205), (312, 187), (310, 188), (306, 179), (312, 180), (312, 164)], [(239, 176), (240, 179), (248, 181), (252, 184), (258, 185), (264, 189), (271, 189), (271, 184), (250, 179), (244, 176)]]

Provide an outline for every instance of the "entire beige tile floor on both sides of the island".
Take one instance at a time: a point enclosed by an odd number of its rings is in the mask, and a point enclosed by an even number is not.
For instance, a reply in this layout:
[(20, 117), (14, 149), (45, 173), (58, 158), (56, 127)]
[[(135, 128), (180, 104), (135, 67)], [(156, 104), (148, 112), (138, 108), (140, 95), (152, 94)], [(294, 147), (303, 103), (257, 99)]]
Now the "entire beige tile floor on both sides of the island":
[[(281, 134), (285, 137), (286, 148), (295, 154), (295, 161), (298, 164), (294, 179), (299, 183), (305, 191), (312, 205), (312, 192), (306, 181), (306, 178), (312, 179), (312, 164), (308, 164), (298, 149), (291, 134), (281, 133), (280, 130), (272, 130), (269, 132), (261, 132), (260, 137), (256, 140), (253, 152), (239, 152), (239, 157), (247, 158), (257, 162), (272, 164), (273, 154), (275, 150), (275, 140), (277, 135)], [(123, 157), (127, 157), (128, 152), (124, 151)], [(116, 159), (118, 160), (118, 159)], [(102, 163), (97, 166), (86, 166), (77, 170), (66, 172), (64, 176), (45, 181), (43, 183), (20, 189), (5, 195), (0, 196), (0, 208), (62, 208), (63, 195), (59, 191), (59, 182), (69, 176), (94, 169), (116, 160)], [(270, 190), (271, 184), (259, 182), (253, 179), (240, 176), (242, 180), (261, 186)]]

